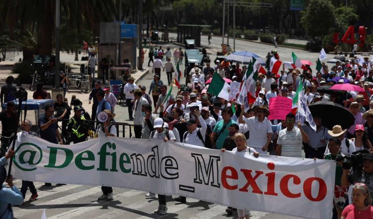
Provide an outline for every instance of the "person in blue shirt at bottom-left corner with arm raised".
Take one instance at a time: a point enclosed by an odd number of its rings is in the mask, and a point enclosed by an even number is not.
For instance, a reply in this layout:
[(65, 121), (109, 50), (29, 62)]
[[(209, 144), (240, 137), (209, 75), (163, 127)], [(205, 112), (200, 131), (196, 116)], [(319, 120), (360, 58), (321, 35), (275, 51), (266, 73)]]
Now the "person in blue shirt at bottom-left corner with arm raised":
[[(19, 192), (16, 186), (13, 184), (13, 177), (9, 175), (6, 177), (6, 170), (5, 164), (6, 160), (11, 158), (14, 154), (13, 150), (10, 150), (6, 153), (4, 157), (0, 159), (0, 218), (1, 219), (13, 219), (13, 210), (11, 208), (12, 205), (22, 205), (23, 203), (23, 196), (22, 193)], [(5, 188), (3, 187), (3, 183), (6, 181), (8, 186), (10, 187)]]

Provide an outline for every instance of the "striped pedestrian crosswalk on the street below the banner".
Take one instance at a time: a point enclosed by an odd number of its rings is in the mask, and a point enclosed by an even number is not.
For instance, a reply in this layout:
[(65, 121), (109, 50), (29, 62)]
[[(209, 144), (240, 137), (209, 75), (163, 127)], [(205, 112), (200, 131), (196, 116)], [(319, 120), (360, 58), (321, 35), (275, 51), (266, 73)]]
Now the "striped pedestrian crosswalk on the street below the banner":
[[(14, 180), (19, 189), (20, 180)], [(58, 185), (45, 187), (44, 183), (35, 182), (38, 199), (28, 202), (31, 194), (26, 194), (22, 206), (13, 207), (17, 219), (40, 219), (46, 209), (47, 219), (218, 219), (226, 217), (226, 207), (214, 203), (187, 198), (187, 203), (177, 203), (167, 197), (168, 214), (160, 216), (153, 212), (158, 207), (157, 198), (147, 198), (147, 192), (113, 188), (114, 200), (98, 201), (101, 188), (98, 186)], [(175, 197), (174, 197), (175, 198)], [(260, 219), (268, 213), (253, 212), (251, 219)], [(233, 218), (237, 217), (234, 213)]]

